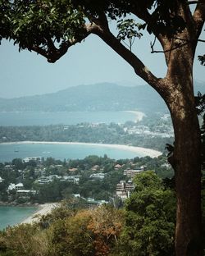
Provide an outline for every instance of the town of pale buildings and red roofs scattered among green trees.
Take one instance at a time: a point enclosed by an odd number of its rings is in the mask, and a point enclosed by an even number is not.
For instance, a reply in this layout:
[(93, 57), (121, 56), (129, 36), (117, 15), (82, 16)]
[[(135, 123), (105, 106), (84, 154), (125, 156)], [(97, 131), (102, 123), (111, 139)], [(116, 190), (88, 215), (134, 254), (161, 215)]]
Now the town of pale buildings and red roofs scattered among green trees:
[(0, 164), (0, 201), (18, 205), (75, 197), (88, 205), (123, 203), (134, 190), (134, 176), (147, 170), (162, 178), (173, 176), (165, 155), (120, 160), (107, 155), (68, 161), (16, 158)]

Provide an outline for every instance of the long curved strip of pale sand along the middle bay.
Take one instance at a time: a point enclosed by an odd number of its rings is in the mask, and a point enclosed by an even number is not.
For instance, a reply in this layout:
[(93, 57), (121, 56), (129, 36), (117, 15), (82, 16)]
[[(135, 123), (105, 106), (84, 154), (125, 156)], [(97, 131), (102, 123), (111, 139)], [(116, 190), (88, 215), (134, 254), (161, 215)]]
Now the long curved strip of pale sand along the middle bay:
[(99, 143), (85, 143), (85, 142), (63, 142), (63, 141), (16, 141), (16, 142), (3, 142), (1, 144), (71, 144), (71, 145), (88, 145), (88, 146), (97, 146), (104, 148), (112, 148), (112, 149), (123, 149), (128, 150), (134, 153), (143, 153), (144, 156), (149, 156), (151, 158), (157, 158), (162, 155), (162, 152), (155, 149), (146, 149), (142, 147), (134, 147), (130, 145), (122, 145), (122, 144), (99, 144)]

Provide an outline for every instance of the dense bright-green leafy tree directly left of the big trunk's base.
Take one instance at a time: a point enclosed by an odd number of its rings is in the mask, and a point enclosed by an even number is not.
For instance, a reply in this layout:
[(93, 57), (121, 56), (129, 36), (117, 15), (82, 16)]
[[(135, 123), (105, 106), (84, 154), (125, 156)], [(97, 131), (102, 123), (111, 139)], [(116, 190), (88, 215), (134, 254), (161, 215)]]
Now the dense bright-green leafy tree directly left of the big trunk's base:
[(162, 181), (146, 171), (135, 177), (135, 190), (125, 203), (121, 255), (173, 255), (175, 196)]

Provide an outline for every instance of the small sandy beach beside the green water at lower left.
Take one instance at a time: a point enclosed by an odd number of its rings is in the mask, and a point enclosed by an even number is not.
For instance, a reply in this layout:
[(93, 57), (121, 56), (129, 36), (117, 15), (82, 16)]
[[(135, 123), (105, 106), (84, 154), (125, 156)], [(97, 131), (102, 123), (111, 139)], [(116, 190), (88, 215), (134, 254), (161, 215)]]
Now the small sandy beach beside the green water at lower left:
[(30, 217), (26, 217), (20, 224), (32, 224), (39, 222), (40, 217), (51, 213), (54, 208), (59, 207), (59, 203), (44, 203), (39, 205), (39, 209), (34, 212)]

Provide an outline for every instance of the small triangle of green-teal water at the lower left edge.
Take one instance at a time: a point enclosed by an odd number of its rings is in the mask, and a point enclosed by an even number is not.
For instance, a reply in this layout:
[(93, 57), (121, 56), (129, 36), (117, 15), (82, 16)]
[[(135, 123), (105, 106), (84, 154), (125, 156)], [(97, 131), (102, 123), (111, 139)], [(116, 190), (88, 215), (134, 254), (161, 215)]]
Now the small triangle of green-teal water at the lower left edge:
[(0, 230), (22, 222), (36, 210), (36, 207), (0, 206)]

